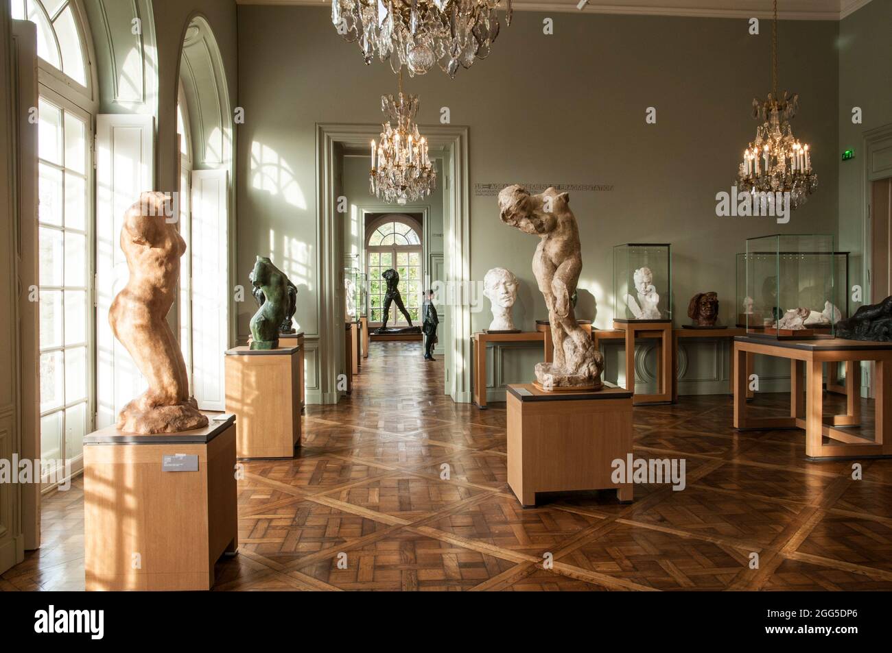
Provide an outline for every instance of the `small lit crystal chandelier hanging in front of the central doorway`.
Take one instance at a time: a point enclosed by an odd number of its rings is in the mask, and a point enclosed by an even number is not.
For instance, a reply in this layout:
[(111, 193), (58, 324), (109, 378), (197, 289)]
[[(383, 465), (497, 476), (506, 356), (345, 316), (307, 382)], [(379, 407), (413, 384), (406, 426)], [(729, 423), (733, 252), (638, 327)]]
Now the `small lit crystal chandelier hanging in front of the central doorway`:
[(437, 173), (427, 156), (428, 143), (412, 122), (418, 110), (418, 96), (402, 93), (402, 72), (400, 94), (382, 95), (381, 110), (390, 119), (382, 126), (381, 142), (376, 145), (372, 141), (369, 192), (388, 204), (427, 197), (436, 187)]

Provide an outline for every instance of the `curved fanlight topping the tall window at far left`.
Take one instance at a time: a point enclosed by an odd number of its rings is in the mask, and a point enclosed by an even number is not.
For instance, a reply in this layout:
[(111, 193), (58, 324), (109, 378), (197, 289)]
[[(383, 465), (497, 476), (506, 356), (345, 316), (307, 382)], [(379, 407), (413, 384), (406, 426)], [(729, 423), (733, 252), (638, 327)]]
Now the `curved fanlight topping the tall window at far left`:
[(86, 42), (72, 0), (12, 0), (12, 18), (37, 25), (37, 56), (89, 86)]

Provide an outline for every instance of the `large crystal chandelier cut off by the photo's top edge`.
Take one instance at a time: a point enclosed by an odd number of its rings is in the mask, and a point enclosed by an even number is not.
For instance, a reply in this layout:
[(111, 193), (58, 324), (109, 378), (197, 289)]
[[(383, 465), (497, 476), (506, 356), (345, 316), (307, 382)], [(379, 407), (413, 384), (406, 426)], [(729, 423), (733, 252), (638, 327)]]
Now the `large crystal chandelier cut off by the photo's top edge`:
[[(511, 24), (511, 0), (505, 0)], [(500, 0), (332, 0), (332, 22), (359, 42), (366, 63), (377, 54), (393, 72), (424, 75), (438, 63), (455, 78), (458, 66), (485, 59), (499, 36)]]

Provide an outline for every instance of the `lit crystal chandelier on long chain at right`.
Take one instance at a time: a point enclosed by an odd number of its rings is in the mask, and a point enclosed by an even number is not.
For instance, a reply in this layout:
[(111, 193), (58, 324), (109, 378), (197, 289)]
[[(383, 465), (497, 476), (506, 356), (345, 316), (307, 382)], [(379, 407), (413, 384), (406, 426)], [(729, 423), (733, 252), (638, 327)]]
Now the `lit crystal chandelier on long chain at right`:
[(756, 140), (743, 152), (737, 186), (754, 195), (772, 193), (767, 195), (769, 202), (775, 197), (773, 193), (789, 192), (789, 208), (796, 209), (817, 189), (818, 175), (812, 171), (808, 145), (797, 141), (789, 126), (789, 119), (796, 115), (799, 96), (788, 97), (786, 91), (783, 97), (778, 94), (777, 24), (778, 4), (774, 0), (772, 93), (765, 102), (753, 100), (753, 118), (763, 124), (756, 127)]

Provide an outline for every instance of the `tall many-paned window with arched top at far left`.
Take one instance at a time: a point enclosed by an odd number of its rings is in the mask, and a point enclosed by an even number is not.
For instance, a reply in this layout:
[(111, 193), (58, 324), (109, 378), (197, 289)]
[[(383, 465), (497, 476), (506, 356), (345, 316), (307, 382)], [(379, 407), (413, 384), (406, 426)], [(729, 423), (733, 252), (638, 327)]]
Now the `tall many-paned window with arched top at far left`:
[(73, 0), (12, 0), (12, 17), (37, 24), (38, 65), (49, 73), (37, 107), (41, 457), (78, 471), (95, 399), (87, 48)]

